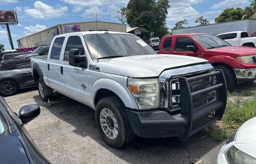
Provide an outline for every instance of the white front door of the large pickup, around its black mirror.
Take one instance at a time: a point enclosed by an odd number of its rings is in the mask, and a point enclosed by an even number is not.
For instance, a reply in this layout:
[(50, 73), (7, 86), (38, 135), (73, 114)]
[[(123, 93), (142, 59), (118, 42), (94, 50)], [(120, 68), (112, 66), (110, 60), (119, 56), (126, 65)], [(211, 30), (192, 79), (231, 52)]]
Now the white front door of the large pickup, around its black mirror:
[[(69, 50), (72, 48), (79, 49), (79, 55), (85, 55), (86, 47), (82, 34), (68, 36), (66, 39), (66, 47), (64, 48), (64, 55), (62, 57), (62, 86), (63, 94), (75, 99), (81, 103), (88, 102), (88, 69), (74, 67), (69, 65)], [(87, 58), (88, 59), (88, 58)]]

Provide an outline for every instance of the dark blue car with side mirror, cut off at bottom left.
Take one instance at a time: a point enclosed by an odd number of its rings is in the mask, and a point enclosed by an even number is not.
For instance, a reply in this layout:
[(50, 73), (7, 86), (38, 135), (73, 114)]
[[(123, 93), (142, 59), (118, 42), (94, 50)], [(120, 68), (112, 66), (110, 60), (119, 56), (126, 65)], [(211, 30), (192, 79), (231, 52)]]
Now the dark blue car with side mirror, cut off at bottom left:
[(0, 156), (2, 164), (50, 163), (32, 140), (24, 125), (40, 114), (37, 104), (20, 108), (14, 113), (0, 97)]

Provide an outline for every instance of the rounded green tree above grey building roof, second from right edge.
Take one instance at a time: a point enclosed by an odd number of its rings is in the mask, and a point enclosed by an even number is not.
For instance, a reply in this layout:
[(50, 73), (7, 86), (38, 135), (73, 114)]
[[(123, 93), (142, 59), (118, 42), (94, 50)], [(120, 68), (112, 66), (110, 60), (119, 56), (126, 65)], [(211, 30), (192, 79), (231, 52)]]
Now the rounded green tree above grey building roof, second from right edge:
[(226, 8), (217, 18), (215, 18), (215, 22), (220, 23), (232, 20), (241, 20), (243, 16), (244, 10), (241, 8)]

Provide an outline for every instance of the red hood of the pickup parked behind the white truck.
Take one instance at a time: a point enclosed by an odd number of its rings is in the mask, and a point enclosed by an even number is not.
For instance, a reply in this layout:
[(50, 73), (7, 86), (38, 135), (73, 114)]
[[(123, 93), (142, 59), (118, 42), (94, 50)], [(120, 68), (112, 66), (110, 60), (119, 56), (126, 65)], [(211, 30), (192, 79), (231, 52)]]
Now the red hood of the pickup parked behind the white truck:
[(229, 54), (231, 57), (235, 57), (235, 58), (238, 56), (256, 55), (256, 48), (244, 47), (244, 46), (226, 46), (226, 47), (209, 49), (208, 51), (216, 52), (220, 55), (222, 53), (223, 55)]

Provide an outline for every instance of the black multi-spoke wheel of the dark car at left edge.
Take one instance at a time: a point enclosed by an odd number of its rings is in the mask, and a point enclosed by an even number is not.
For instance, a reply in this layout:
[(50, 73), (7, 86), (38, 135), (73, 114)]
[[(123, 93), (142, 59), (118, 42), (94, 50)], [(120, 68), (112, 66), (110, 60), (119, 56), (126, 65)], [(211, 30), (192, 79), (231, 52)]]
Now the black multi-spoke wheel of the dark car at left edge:
[(1, 96), (12, 96), (15, 95), (19, 90), (19, 85), (12, 79), (5, 79), (0, 82), (0, 95)]

